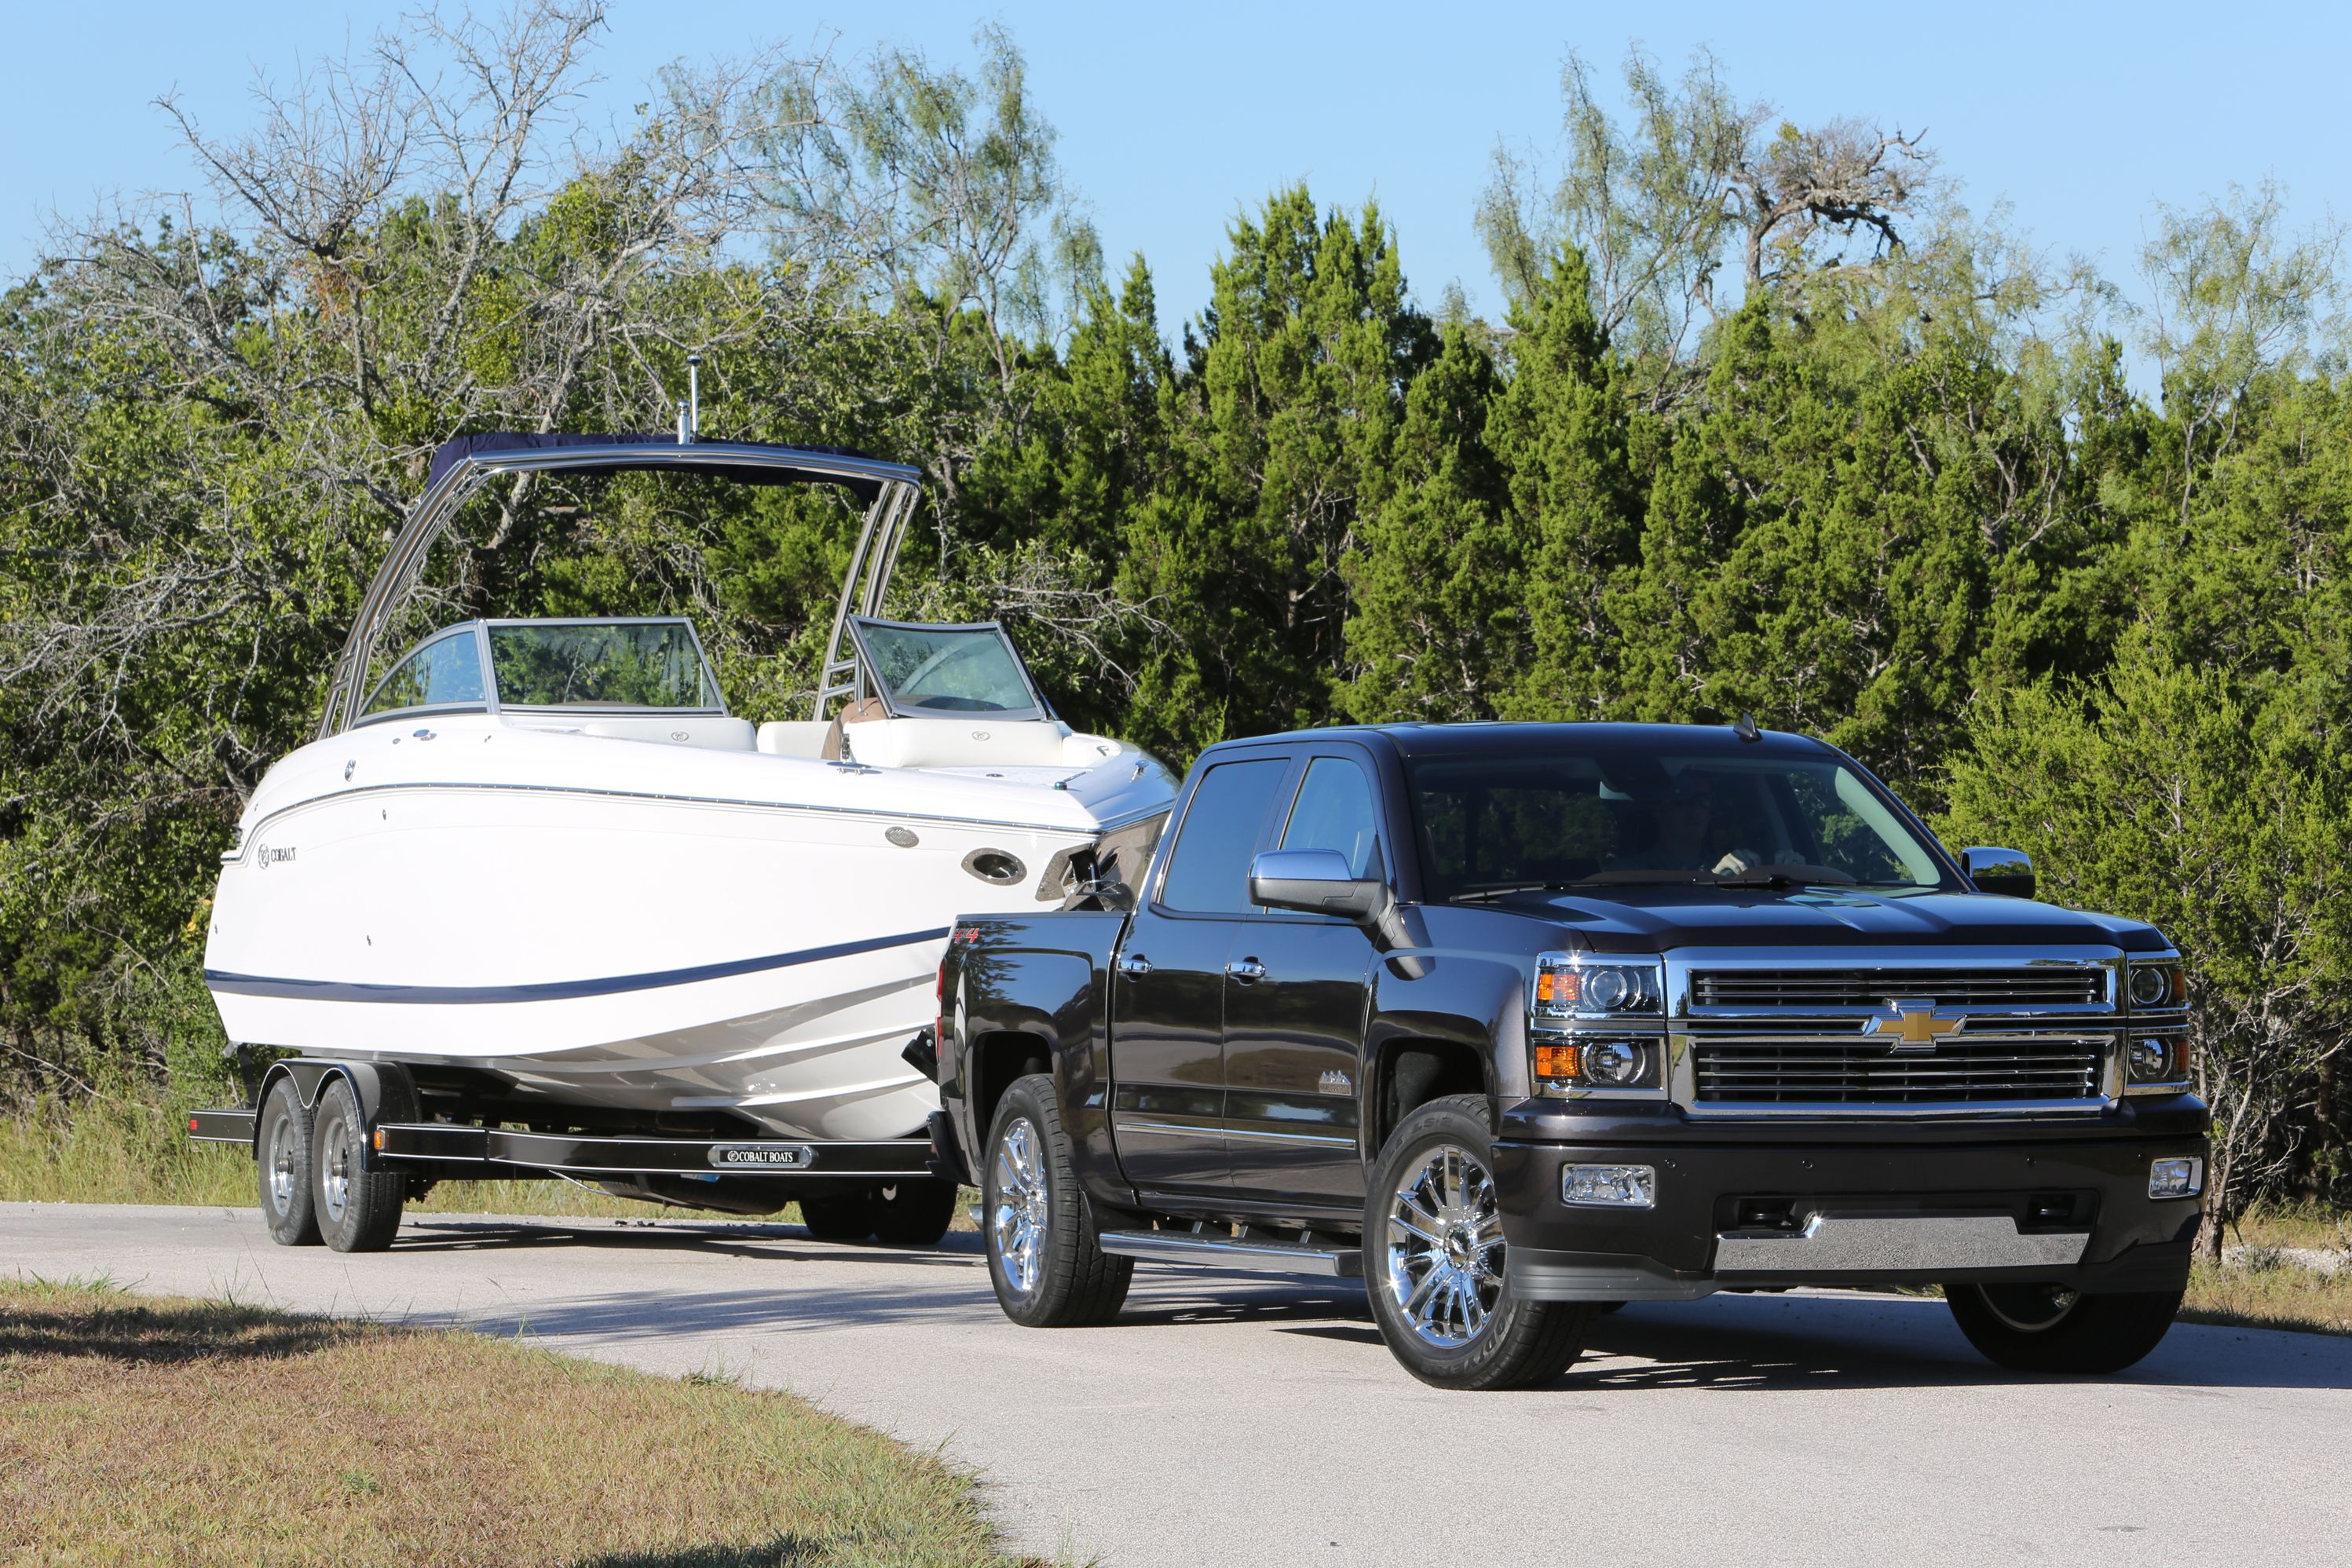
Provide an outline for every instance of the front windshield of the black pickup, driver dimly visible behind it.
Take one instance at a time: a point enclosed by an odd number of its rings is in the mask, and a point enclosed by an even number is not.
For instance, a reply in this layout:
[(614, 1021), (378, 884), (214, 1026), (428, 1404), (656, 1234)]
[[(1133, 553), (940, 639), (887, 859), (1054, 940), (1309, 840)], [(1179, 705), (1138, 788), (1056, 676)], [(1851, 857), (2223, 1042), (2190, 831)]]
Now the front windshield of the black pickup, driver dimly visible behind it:
[(1835, 757), (1562, 748), (1406, 762), (1425, 896), (1623, 884), (1940, 886), (1903, 818)]

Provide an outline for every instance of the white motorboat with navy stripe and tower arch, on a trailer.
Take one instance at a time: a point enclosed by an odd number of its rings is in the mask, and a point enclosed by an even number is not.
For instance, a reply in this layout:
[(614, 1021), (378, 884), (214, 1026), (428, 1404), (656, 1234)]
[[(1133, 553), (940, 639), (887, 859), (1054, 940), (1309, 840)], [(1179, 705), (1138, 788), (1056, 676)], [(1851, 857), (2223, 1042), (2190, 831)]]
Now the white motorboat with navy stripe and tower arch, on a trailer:
[[(868, 501), (807, 719), (729, 715), (675, 616), (468, 621), (376, 675), (482, 482), (642, 468)], [(221, 858), (205, 980), (228, 1039), (405, 1063), (489, 1119), (920, 1131), (936, 1088), (903, 1051), (950, 919), (1138, 867), (1176, 780), (1058, 722), (995, 623), (880, 618), (917, 498), (913, 468), (786, 447), (445, 447), (318, 738)]]

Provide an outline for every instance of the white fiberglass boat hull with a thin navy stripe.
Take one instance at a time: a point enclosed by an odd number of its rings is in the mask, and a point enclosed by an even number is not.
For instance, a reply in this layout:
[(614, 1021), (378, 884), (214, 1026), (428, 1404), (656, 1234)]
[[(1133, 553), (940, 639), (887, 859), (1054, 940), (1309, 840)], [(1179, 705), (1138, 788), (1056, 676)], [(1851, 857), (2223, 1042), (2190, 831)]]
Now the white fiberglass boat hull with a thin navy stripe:
[[(936, 1110), (901, 1051), (931, 1023), (950, 919), (1040, 907), (1056, 851), (1169, 792), (1141, 752), (1087, 738), (1073, 764), (990, 773), (492, 715), (362, 726), (256, 792), (207, 985), (242, 1044), (896, 1138)], [(1021, 877), (981, 879), (976, 851)]]

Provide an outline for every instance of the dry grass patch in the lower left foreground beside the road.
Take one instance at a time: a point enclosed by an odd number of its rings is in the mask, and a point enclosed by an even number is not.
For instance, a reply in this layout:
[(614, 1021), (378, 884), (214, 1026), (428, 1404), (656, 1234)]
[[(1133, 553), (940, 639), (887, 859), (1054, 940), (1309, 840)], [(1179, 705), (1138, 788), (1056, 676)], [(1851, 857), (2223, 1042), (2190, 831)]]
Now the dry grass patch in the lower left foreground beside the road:
[(727, 1378), (0, 1281), (0, 1561), (1011, 1561), (971, 1488)]

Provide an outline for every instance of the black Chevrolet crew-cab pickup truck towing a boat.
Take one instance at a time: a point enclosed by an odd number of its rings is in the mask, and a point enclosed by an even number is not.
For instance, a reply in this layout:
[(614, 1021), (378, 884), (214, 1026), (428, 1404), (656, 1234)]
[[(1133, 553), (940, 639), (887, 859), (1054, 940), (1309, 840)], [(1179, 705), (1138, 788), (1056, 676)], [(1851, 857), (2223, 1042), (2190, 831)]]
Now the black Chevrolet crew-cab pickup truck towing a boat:
[(1021, 1324), (1105, 1321), (1136, 1260), (1364, 1276), (1414, 1375), (1529, 1387), (1632, 1300), (1938, 1284), (2067, 1373), (2180, 1307), (2180, 954), (1820, 741), (1235, 741), (1084, 870), (938, 980), (934, 1140)]

